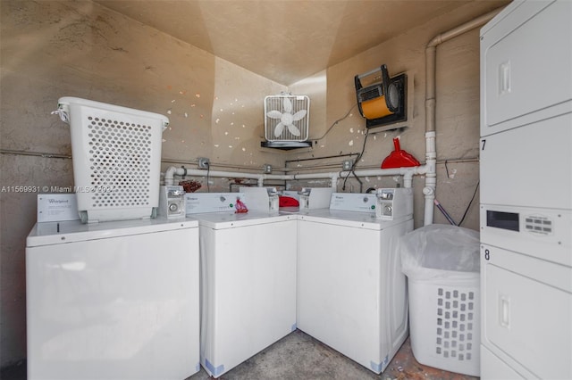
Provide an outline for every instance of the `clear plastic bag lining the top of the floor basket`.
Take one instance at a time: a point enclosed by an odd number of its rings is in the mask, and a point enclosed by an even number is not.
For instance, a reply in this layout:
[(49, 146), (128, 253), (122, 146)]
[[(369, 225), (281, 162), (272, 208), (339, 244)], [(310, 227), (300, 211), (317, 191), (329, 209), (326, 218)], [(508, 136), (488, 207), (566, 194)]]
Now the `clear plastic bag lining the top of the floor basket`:
[(401, 270), (414, 280), (473, 277), (480, 271), (479, 244), (479, 233), (472, 229), (420, 227), (400, 237)]

